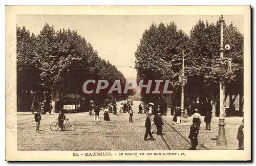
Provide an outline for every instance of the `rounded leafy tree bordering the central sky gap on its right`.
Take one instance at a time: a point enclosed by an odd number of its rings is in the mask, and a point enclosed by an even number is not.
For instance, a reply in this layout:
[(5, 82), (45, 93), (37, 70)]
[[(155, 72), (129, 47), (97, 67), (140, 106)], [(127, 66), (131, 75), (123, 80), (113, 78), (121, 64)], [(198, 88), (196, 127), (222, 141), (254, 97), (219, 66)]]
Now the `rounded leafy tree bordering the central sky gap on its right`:
[(169, 86), (173, 87), (174, 93), (161, 93), (159, 96), (167, 108), (172, 105), (180, 85), (182, 55), (189, 51), (186, 46), (188, 42), (188, 36), (182, 30), (177, 30), (174, 22), (166, 26), (163, 23), (157, 26), (153, 22), (150, 29), (144, 31), (135, 52), (137, 80), (161, 78), (170, 81)]

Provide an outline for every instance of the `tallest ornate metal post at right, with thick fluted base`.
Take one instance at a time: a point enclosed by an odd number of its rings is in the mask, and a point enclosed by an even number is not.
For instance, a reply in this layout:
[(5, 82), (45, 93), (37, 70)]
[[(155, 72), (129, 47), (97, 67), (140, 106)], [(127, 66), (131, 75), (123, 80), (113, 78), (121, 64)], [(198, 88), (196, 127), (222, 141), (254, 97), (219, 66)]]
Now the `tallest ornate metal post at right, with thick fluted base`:
[[(221, 25), (221, 45), (220, 45), (220, 59), (224, 59), (224, 48), (223, 48), (223, 15), (220, 18)], [(219, 135), (217, 139), (217, 146), (227, 146), (227, 140), (225, 135), (225, 119), (224, 119), (224, 79), (223, 74), (226, 73), (226, 64), (220, 64), (220, 115), (219, 115)]]

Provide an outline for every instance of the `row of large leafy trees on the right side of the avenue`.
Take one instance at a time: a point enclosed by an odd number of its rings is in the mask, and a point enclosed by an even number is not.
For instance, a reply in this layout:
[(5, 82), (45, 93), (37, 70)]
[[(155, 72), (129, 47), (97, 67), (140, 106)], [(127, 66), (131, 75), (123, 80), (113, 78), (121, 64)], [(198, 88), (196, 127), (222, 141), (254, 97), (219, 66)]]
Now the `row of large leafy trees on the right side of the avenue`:
[[(224, 75), (225, 99), (233, 95), (240, 96), (242, 111), (243, 98), (243, 34), (232, 25), (224, 25), (224, 45), (231, 49), (224, 55), (231, 59), (231, 71)], [(168, 79), (175, 89), (173, 94), (162, 94), (155, 99), (143, 94), (146, 102), (161, 101), (166, 108), (180, 105), (181, 86), (179, 77), (182, 69), (182, 56), (185, 56), (185, 105), (193, 105), (199, 99), (202, 108), (212, 110), (216, 115), (219, 101), (219, 74), (212, 72), (212, 60), (220, 58), (220, 23), (209, 23), (199, 20), (191, 29), (190, 35), (177, 30), (174, 22), (169, 25), (153, 22), (146, 29), (138, 45), (136, 56), (137, 81), (147, 79)]]

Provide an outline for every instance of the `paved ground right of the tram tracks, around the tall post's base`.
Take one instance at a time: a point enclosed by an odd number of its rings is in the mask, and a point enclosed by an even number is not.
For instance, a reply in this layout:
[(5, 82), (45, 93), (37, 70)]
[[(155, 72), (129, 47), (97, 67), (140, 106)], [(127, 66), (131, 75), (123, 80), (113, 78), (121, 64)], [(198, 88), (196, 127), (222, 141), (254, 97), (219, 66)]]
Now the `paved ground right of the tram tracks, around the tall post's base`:
[[(181, 124), (175, 124), (173, 120), (173, 116), (166, 117), (162, 116), (163, 120), (165, 120), (170, 126), (172, 126), (179, 134), (181, 134), (188, 141), (188, 135), (190, 130), (190, 125), (192, 124), (192, 118), (188, 117), (186, 119), (187, 122), (183, 122)], [(219, 130), (219, 117), (212, 118), (211, 122), (211, 130), (205, 130), (205, 123), (203, 122), (204, 116), (201, 116), (201, 126), (198, 135), (198, 144), (202, 145), (204, 148), (208, 150), (214, 150), (216, 145), (216, 140), (218, 137)], [(237, 132), (238, 127), (240, 126), (243, 117), (227, 117), (225, 118), (225, 135), (227, 139), (227, 149), (236, 150), (238, 148), (238, 140), (237, 140)]]

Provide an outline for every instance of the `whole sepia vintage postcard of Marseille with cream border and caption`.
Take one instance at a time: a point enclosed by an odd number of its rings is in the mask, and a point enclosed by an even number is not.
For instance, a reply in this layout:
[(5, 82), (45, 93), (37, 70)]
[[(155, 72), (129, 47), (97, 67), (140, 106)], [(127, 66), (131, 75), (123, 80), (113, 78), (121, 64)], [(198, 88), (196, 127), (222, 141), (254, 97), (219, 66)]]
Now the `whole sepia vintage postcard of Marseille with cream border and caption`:
[(6, 160), (251, 160), (250, 6), (6, 6)]

